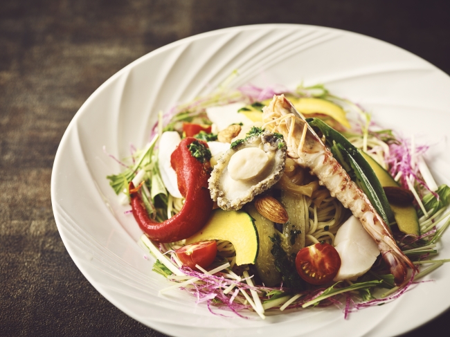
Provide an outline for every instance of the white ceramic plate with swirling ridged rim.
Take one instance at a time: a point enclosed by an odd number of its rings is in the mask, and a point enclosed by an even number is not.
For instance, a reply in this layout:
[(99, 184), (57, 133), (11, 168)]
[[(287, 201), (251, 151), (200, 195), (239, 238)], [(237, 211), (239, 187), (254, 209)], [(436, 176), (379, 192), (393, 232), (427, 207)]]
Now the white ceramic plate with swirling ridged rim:
[[(402, 298), (352, 313), (298, 311), (266, 320), (215, 316), (181, 291), (159, 296), (165, 279), (136, 244), (141, 234), (124, 215), (105, 178), (120, 171), (129, 144), (147, 143), (156, 113), (208, 93), (232, 71), (231, 86), (326, 84), (372, 111), (384, 127), (433, 145), (427, 154), (439, 183), (450, 183), (450, 78), (428, 62), (377, 39), (300, 25), (244, 26), (175, 42), (141, 57), (102, 84), (66, 130), (53, 167), (53, 212), (80, 271), (120, 310), (173, 336), (393, 336), (434, 318), (450, 305), (445, 265)], [(447, 173), (447, 176), (446, 176)], [(450, 234), (450, 233), (449, 233)], [(450, 235), (442, 242), (450, 257)]]

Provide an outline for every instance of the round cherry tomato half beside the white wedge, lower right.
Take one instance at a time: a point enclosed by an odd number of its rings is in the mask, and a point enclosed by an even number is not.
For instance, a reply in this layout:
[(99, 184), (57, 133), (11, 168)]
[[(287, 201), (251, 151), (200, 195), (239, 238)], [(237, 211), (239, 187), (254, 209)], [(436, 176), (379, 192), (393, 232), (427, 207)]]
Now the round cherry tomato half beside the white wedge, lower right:
[(298, 275), (306, 282), (325, 284), (333, 280), (341, 268), (341, 257), (330, 244), (314, 244), (300, 249), (296, 267)]

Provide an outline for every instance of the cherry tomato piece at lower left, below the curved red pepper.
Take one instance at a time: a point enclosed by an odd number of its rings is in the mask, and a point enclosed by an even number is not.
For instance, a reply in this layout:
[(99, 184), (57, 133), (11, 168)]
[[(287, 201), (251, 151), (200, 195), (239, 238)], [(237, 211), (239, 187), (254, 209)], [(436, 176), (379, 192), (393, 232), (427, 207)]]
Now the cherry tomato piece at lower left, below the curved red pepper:
[(213, 263), (217, 254), (217, 244), (215, 241), (202, 241), (195, 244), (188, 244), (175, 251), (183, 266), (197, 270), (195, 265), (206, 268)]

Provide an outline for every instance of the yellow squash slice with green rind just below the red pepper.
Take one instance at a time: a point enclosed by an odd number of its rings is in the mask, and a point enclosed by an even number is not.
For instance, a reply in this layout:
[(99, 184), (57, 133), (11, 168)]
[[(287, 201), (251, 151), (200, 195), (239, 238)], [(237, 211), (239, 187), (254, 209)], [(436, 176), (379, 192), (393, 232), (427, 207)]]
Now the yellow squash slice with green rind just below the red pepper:
[(207, 240), (226, 240), (235, 246), (236, 264), (254, 264), (258, 256), (258, 230), (252, 217), (242, 210), (213, 210), (213, 214), (186, 244)]

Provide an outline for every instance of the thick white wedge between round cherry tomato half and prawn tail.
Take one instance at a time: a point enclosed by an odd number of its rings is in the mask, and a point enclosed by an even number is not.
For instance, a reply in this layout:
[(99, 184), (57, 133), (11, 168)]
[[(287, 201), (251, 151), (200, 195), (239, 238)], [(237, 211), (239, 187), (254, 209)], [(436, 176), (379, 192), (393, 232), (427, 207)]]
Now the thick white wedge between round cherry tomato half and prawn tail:
[(356, 280), (379, 255), (377, 244), (353, 215), (337, 231), (334, 245), (341, 257), (341, 268), (334, 281)]

